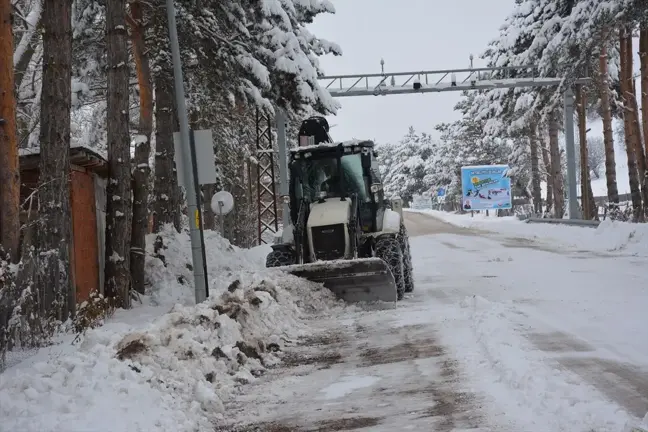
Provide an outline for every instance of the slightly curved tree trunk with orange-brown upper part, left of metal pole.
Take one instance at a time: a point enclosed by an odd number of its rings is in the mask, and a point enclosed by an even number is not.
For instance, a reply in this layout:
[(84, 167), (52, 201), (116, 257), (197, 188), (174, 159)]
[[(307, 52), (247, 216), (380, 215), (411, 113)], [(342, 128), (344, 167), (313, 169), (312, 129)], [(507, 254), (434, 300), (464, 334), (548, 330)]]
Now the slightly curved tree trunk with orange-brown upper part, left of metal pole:
[(133, 289), (144, 294), (144, 263), (146, 234), (148, 234), (149, 175), (151, 167), (151, 134), (153, 133), (153, 85), (151, 67), (144, 41), (143, 4), (131, 3), (131, 39), (133, 57), (139, 84), (139, 136), (135, 140), (135, 167), (133, 171), (133, 228), (131, 235), (130, 269)]

